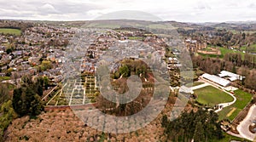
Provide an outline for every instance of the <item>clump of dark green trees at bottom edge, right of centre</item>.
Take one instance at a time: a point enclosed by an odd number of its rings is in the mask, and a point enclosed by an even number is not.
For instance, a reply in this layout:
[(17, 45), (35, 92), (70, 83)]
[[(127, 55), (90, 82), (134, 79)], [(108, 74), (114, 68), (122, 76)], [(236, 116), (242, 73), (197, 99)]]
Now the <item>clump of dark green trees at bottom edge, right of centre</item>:
[(224, 135), (218, 122), (218, 114), (214, 111), (198, 110), (183, 112), (174, 121), (167, 116), (162, 117), (161, 125), (165, 128), (168, 140), (190, 142), (218, 141)]

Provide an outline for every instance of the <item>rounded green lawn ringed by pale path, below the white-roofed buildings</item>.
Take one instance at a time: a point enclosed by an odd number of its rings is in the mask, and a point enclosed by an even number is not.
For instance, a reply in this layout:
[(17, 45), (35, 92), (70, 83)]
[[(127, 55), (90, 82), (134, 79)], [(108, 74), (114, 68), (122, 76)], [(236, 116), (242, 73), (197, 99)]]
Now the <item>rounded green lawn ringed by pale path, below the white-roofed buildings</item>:
[(194, 92), (197, 95), (196, 101), (202, 105), (214, 106), (220, 103), (228, 103), (233, 100), (230, 94), (226, 94), (218, 88), (213, 88), (212, 86), (199, 88)]

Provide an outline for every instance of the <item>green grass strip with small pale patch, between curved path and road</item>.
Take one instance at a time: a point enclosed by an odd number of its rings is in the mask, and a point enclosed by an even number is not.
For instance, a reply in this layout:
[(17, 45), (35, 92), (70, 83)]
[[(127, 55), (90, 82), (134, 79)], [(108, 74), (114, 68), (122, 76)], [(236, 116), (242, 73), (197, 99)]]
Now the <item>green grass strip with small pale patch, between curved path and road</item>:
[(248, 94), (241, 90), (236, 90), (235, 96), (237, 99), (235, 104), (225, 107), (222, 111), (218, 112), (219, 120), (229, 119), (232, 121), (253, 97), (252, 94)]

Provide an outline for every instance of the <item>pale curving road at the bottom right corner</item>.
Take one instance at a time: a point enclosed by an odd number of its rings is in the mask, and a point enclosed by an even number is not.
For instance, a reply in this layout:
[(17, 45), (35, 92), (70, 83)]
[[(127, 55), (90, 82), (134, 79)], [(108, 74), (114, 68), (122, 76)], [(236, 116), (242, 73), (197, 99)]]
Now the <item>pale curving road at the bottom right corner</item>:
[(256, 105), (254, 104), (251, 106), (250, 110), (248, 111), (247, 116), (244, 118), (243, 121), (237, 126), (237, 131), (240, 135), (248, 140), (252, 140), (256, 137), (256, 133), (251, 133), (249, 131), (249, 126), (252, 124), (253, 120), (256, 119)]

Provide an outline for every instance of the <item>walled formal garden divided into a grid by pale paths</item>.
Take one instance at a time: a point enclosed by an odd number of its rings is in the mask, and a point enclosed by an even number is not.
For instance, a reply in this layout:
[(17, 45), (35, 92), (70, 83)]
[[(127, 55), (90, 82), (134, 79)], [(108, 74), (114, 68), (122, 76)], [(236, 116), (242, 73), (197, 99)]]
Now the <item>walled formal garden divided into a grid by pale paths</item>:
[(99, 94), (96, 88), (96, 78), (86, 74), (62, 82), (61, 88), (53, 91), (46, 105), (85, 105), (96, 102)]

